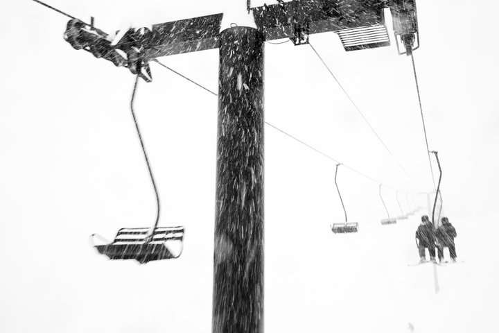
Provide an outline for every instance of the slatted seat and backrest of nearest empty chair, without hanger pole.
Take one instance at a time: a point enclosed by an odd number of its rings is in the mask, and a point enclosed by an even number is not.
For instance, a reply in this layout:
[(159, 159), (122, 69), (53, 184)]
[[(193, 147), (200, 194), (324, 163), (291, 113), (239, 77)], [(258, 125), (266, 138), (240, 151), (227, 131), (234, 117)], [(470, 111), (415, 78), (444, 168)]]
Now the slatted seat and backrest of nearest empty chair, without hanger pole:
[[(154, 260), (175, 259), (182, 254), (184, 227), (159, 227), (146, 239), (150, 228), (122, 228), (110, 244), (96, 245), (101, 255), (112, 260), (135, 259), (141, 264)], [(174, 253), (169, 245), (180, 243), (180, 252)]]

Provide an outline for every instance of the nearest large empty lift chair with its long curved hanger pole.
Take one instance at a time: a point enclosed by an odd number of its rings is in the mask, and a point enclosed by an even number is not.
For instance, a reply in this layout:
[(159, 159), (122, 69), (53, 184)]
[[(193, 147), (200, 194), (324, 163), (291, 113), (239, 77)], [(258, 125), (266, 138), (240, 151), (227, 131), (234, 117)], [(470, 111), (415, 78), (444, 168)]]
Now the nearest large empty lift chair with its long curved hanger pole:
[[(121, 228), (112, 242), (105, 241), (105, 239), (98, 234), (92, 234), (91, 241), (98, 253), (106, 255), (112, 260), (135, 259), (137, 262), (145, 264), (153, 260), (175, 259), (180, 257), (183, 249), (184, 227), (158, 227), (160, 212), (159, 194), (133, 108), (138, 82), (139, 76), (135, 79), (130, 110), (132, 111), (135, 128), (137, 129), (139, 142), (142, 147), (144, 159), (146, 160), (152, 187), (156, 195), (156, 221), (151, 228)], [(98, 238), (101, 241), (103, 240), (105, 243), (95, 244), (95, 238)]]

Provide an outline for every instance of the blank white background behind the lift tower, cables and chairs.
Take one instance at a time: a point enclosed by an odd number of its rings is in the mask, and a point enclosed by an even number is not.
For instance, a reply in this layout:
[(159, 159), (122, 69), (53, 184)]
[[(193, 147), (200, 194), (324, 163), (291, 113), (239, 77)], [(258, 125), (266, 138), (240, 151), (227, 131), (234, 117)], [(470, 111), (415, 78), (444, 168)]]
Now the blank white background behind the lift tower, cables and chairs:
[[(245, 1), (238, 2), (50, 3), (85, 20), (93, 15), (99, 28), (112, 31), (225, 10), (224, 24), (239, 22)], [(444, 211), (457, 228), (464, 264), (439, 268), (442, 291), (435, 296), (430, 269), (406, 266), (417, 260), (419, 218), (381, 228), (378, 185), (347, 169), (340, 169), (339, 183), (361, 232), (331, 234), (329, 225), (343, 218), (334, 163), (267, 126), (265, 330), (405, 332), (413, 323), (415, 332), (491, 332), (499, 296), (492, 247), (499, 231), (499, 5), (489, 2), (417, 1), (415, 58), (430, 148), (440, 152)], [(186, 226), (184, 253), (146, 266), (107, 261), (90, 248), (89, 234), (112, 238), (155, 216), (128, 108), (134, 78), (73, 50), (62, 39), (67, 19), (57, 13), (33, 1), (3, 8), (0, 331), (209, 332), (216, 97), (155, 64), (153, 82), (139, 83), (137, 117), (164, 207), (160, 223)], [(389, 31), (393, 41), (390, 25)], [(410, 59), (398, 56), (394, 43), (346, 53), (334, 33), (311, 42), (411, 177), (308, 46), (265, 46), (266, 121), (401, 189), (401, 198), (404, 190), (429, 191)], [(217, 89), (217, 50), (163, 61)], [(394, 189), (383, 193), (398, 214)]]

